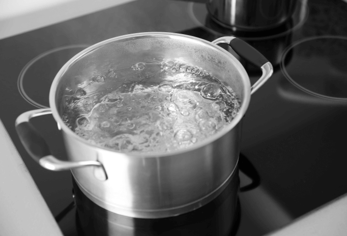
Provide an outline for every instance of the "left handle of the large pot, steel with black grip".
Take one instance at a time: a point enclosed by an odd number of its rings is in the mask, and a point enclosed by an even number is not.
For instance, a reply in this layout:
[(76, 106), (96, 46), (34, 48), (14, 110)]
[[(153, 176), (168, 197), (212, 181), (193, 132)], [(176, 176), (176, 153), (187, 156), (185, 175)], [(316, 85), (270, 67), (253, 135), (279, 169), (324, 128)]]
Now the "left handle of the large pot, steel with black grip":
[[(42, 167), (53, 171), (69, 170), (84, 166), (97, 166), (98, 169), (102, 169), (102, 171), (97, 171), (98, 179), (107, 180), (104, 166), (99, 161), (61, 161), (51, 154), (50, 148), (45, 139), (33, 127), (33, 125), (30, 124), (31, 118), (47, 114), (52, 114), (50, 108), (27, 111), (18, 116), (16, 119), (15, 127), (17, 134), (30, 156)], [(100, 174), (100, 172), (103, 174)]]

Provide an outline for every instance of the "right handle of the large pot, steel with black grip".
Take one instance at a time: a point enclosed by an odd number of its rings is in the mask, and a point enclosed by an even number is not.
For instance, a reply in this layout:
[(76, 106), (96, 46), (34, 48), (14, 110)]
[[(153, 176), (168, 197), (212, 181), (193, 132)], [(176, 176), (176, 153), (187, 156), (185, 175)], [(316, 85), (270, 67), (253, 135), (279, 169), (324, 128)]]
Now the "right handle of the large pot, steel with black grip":
[(243, 40), (235, 37), (222, 37), (212, 42), (213, 44), (228, 44), (240, 57), (261, 68), (263, 74), (260, 79), (251, 87), (251, 94), (254, 94), (273, 74), (274, 69), (268, 59), (257, 49), (250, 46)]

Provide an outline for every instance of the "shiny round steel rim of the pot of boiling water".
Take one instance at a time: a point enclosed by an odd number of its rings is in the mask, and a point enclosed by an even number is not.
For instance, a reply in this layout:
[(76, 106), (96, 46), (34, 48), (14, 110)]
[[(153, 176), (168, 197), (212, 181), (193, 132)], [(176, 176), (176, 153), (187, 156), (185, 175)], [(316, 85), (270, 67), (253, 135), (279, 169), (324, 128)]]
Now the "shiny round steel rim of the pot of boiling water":
[[(193, 145), (186, 147), (186, 148), (181, 148), (178, 150), (174, 150), (174, 151), (160, 151), (160, 152), (146, 152), (146, 153), (141, 153), (141, 152), (136, 152), (136, 153), (132, 153), (132, 152), (119, 152), (116, 151), (112, 148), (108, 148), (108, 147), (100, 147), (97, 146), (95, 144), (92, 144), (86, 140), (84, 140), (83, 138), (79, 137), (77, 134), (75, 134), (72, 130), (70, 130), (65, 123), (62, 121), (62, 118), (59, 116), (58, 114), (58, 109), (56, 106), (56, 92), (57, 92), (57, 86), (58, 86), (58, 82), (61, 78), (61, 76), (71, 67), (73, 66), (73, 64), (78, 61), (81, 57), (93, 52), (94, 50), (100, 48), (100, 47), (104, 47), (110, 43), (114, 43), (116, 41), (120, 41), (120, 40), (129, 40), (129, 39), (140, 39), (140, 38), (171, 38), (171, 39), (177, 39), (177, 40), (185, 40), (185, 41), (191, 41), (194, 42), (196, 44), (200, 44), (206, 47), (210, 47), (213, 48), (215, 50), (218, 50), (220, 53), (225, 54), (231, 61), (232, 64), (235, 65), (237, 71), (239, 72), (239, 74), (241, 75), (241, 80), (242, 80), (242, 84), (243, 84), (243, 99), (241, 100), (241, 106), (240, 106), (240, 110), (238, 112), (238, 114), (236, 115), (236, 117), (231, 121), (230, 124), (228, 124), (222, 131), (217, 132), (216, 134), (210, 136), (209, 138), (194, 143)], [(178, 155), (181, 153), (185, 153), (185, 152), (189, 152), (189, 151), (193, 151), (195, 149), (198, 149), (202, 146), (205, 146), (211, 142), (214, 142), (216, 140), (218, 140), (219, 138), (223, 137), (225, 134), (227, 134), (229, 131), (231, 131), (231, 129), (233, 127), (235, 127), (238, 122), (240, 122), (240, 120), (242, 119), (243, 115), (245, 114), (249, 102), (250, 102), (250, 93), (251, 93), (251, 85), (250, 85), (250, 81), (249, 81), (249, 77), (247, 72), (245, 71), (244, 67), (241, 65), (241, 63), (227, 50), (225, 50), (222, 47), (219, 47), (216, 44), (213, 44), (209, 41), (200, 39), (200, 38), (196, 38), (193, 36), (188, 36), (188, 35), (183, 35), (183, 34), (177, 34), (177, 33), (167, 33), (167, 32), (143, 32), (143, 33), (135, 33), (135, 34), (128, 34), (128, 35), (123, 35), (123, 36), (118, 36), (115, 38), (111, 38), (105, 41), (102, 41), (100, 43), (97, 43), (95, 45), (92, 45), (86, 49), (84, 49), (83, 51), (79, 52), (78, 54), (76, 54), (74, 57), (72, 57), (69, 61), (67, 61), (58, 71), (56, 77), (54, 78), (52, 85), (51, 85), (51, 89), (50, 89), (50, 95), (49, 95), (49, 103), (50, 103), (50, 107), (52, 110), (52, 114), (54, 119), (56, 120), (56, 122), (58, 123), (58, 126), (60, 126), (60, 128), (67, 134), (72, 136), (74, 139), (78, 140), (79, 142), (83, 142), (86, 145), (89, 146), (93, 146), (96, 150), (106, 150), (106, 151), (111, 151), (115, 154), (126, 154), (126, 155), (130, 155), (130, 156), (134, 156), (134, 157), (164, 157), (164, 156), (173, 156), (173, 155)]]

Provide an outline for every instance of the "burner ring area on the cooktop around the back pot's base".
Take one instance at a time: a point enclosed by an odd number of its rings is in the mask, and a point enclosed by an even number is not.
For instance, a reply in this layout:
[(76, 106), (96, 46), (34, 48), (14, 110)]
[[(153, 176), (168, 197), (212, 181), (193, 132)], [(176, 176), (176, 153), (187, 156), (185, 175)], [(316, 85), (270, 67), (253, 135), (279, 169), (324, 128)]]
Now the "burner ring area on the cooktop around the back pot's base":
[(188, 5), (188, 13), (190, 18), (200, 27), (208, 32), (215, 34), (216, 36), (235, 36), (241, 39), (248, 40), (266, 40), (278, 38), (287, 35), (297, 29), (299, 29), (308, 18), (308, 7), (305, 0), (298, 0), (298, 4), (294, 10), (294, 13), (285, 24), (264, 31), (242, 31), (232, 30), (216, 23), (210, 16), (206, 8), (206, 4), (191, 2)]

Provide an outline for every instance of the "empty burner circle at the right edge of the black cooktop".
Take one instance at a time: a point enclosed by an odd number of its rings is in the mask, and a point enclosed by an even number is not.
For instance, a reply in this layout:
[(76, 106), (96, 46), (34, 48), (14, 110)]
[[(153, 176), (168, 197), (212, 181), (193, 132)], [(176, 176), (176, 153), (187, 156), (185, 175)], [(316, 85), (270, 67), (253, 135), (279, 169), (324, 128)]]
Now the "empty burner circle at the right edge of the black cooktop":
[(308, 94), (347, 101), (346, 55), (345, 36), (305, 38), (285, 50), (281, 70), (291, 84)]

